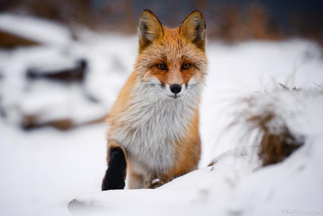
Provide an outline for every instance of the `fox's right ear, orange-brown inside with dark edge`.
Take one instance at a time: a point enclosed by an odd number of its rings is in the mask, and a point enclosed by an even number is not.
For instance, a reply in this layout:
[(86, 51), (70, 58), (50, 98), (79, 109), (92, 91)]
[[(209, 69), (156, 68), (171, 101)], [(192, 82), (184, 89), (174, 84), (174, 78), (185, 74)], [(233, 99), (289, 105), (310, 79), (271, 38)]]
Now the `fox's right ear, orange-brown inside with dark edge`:
[(180, 26), (180, 35), (204, 50), (205, 48), (205, 23), (201, 12), (192, 11)]

